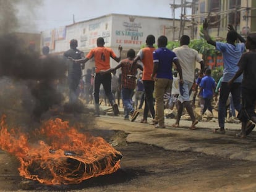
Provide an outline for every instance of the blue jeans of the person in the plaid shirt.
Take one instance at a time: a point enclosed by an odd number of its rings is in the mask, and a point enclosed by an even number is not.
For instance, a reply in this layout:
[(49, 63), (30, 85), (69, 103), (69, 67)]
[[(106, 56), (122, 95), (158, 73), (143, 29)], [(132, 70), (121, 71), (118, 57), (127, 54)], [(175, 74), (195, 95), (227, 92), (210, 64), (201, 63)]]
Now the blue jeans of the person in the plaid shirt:
[(132, 94), (134, 89), (122, 88), (122, 103), (124, 104), (124, 119), (129, 118), (129, 114), (134, 112), (134, 106), (132, 106)]

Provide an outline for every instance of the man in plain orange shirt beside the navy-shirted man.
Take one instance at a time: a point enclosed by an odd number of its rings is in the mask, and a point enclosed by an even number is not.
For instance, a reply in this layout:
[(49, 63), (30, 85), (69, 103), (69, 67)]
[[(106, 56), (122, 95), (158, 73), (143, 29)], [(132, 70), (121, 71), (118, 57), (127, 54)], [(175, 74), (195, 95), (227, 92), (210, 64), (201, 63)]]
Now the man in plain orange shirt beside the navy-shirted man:
[(150, 111), (152, 118), (155, 119), (155, 108), (154, 108), (154, 98), (153, 98), (155, 81), (151, 79), (151, 74), (153, 73), (153, 67), (154, 67), (154, 62), (153, 62), (153, 52), (155, 51), (155, 48), (153, 46), (154, 43), (155, 43), (155, 36), (148, 35), (146, 39), (147, 47), (140, 49), (140, 51), (137, 54), (137, 57), (135, 57), (134, 59), (134, 64), (137, 63), (137, 61), (139, 60), (142, 61), (143, 63), (142, 81), (143, 81), (144, 90), (145, 90), (145, 107), (144, 107), (143, 119), (141, 120), (141, 123), (147, 123), (148, 111)]

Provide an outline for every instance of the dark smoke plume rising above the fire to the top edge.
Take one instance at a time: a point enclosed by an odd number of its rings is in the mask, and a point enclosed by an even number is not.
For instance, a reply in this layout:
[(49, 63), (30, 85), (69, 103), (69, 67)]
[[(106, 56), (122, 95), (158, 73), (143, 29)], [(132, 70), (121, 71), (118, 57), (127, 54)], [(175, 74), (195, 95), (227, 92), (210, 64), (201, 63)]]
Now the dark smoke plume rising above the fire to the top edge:
[(28, 42), (16, 33), (24, 23), (17, 16), (19, 8), (27, 13), (22, 18), (32, 21), (40, 4), (39, 0), (0, 0), (0, 114), (19, 112), (40, 119), (63, 102), (59, 87), (66, 80), (67, 67), (62, 57), (41, 59), (40, 52), (28, 49)]

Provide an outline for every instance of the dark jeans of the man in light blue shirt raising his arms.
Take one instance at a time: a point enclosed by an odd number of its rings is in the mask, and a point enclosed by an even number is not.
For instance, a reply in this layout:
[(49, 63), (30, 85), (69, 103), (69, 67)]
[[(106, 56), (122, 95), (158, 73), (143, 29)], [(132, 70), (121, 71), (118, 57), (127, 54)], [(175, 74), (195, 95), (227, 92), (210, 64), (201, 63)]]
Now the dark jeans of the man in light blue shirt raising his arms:
[(236, 111), (241, 110), (241, 83), (233, 83), (228, 86), (227, 82), (221, 82), (219, 110), (218, 110), (218, 122), (219, 126), (224, 128), (225, 116), (226, 116), (226, 102), (228, 100), (229, 93), (232, 94), (233, 103)]

